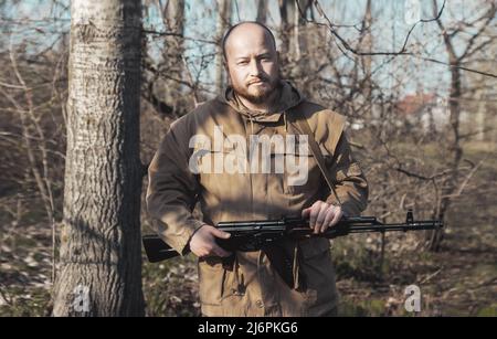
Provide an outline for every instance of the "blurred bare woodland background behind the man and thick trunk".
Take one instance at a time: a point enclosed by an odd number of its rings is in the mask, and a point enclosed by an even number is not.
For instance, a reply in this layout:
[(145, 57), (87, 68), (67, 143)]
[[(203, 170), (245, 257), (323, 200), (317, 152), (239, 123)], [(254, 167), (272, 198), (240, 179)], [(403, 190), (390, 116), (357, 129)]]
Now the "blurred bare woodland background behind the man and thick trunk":
[[(142, 1), (141, 161), (171, 121), (226, 85), (219, 42), (268, 25), (283, 76), (348, 117), (364, 215), (443, 232), (332, 243), (340, 315), (497, 316), (495, 0)], [(65, 163), (68, 0), (0, 0), (0, 316), (50, 314)], [(147, 180), (144, 180), (144, 192)], [(150, 220), (142, 199), (142, 232)], [(193, 256), (145, 263), (149, 316), (197, 316)]]

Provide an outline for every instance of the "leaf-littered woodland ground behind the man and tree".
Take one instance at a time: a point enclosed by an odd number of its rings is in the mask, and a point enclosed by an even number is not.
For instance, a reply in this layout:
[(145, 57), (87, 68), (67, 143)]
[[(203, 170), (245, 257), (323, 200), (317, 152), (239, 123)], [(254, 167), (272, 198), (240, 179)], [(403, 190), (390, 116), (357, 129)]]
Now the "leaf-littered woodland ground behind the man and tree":
[[(467, 192), (447, 216), (440, 252), (416, 244), (421, 234), (389, 234), (381, 261), (378, 236), (355, 235), (334, 243), (337, 285), (343, 316), (497, 316), (497, 157), (486, 148), (469, 157), (487, 157), (475, 180), (488, 182), (484, 194)], [(3, 200), (2, 200), (3, 201)], [(35, 204), (3, 204), (0, 215), (0, 316), (50, 314), (51, 230)], [(21, 211), (21, 212), (19, 212)], [(21, 218), (14, 218), (15, 213)], [(348, 251), (351, 244), (360, 251)], [(402, 244), (409, 243), (405, 248)], [(371, 245), (372, 244), (372, 245)], [(145, 255), (144, 255), (145, 262)], [(149, 316), (199, 315), (194, 258), (144, 265), (144, 293)], [(417, 285), (421, 311), (404, 309), (404, 289)]]

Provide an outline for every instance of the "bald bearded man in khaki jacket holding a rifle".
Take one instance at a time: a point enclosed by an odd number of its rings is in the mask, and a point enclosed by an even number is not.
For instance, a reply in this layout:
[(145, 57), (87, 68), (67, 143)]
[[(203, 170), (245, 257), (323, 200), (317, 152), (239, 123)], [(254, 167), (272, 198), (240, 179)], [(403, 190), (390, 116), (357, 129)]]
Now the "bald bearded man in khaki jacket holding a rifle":
[[(149, 168), (149, 213), (163, 241), (199, 257), (203, 315), (334, 315), (338, 300), (327, 239), (229, 253), (215, 239), (230, 234), (215, 225), (302, 215), (318, 234), (342, 215), (358, 215), (366, 208), (368, 184), (343, 134), (345, 119), (281, 80), (275, 40), (266, 27), (233, 27), (223, 53), (231, 85), (171, 126)], [(319, 145), (338, 197), (295, 125), (298, 115)], [(268, 163), (257, 162), (264, 156), (260, 146), (268, 146)], [(297, 173), (300, 165), (305, 176)], [(192, 216), (197, 201), (202, 220)], [(288, 262), (289, 277), (282, 274)]]

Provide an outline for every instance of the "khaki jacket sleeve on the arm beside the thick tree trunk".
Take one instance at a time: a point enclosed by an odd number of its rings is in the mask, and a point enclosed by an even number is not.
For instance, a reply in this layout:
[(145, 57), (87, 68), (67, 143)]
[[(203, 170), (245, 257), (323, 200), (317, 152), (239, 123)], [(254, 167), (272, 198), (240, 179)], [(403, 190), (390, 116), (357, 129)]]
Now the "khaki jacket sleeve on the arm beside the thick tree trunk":
[(188, 168), (188, 134), (178, 125), (171, 126), (148, 168), (147, 209), (159, 236), (184, 255), (204, 223), (192, 215), (199, 184)]

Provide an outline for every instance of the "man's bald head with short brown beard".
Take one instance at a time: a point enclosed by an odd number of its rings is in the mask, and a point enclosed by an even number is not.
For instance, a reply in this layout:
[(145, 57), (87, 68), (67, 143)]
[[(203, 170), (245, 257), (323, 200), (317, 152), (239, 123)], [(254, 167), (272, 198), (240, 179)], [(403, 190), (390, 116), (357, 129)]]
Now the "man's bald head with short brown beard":
[(232, 27), (222, 41), (231, 84), (237, 95), (264, 103), (279, 82), (279, 64), (273, 33), (258, 22)]

